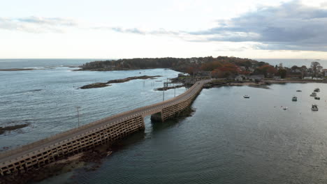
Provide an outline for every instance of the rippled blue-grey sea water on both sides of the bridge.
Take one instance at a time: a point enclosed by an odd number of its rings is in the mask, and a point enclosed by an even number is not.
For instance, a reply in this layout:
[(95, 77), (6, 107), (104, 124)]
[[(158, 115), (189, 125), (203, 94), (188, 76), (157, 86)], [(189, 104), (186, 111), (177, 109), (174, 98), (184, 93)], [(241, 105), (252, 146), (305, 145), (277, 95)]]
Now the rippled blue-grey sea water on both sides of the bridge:
[[(76, 106), (81, 107), (80, 120), (85, 124), (160, 102), (162, 91), (153, 89), (178, 74), (163, 69), (73, 69), (0, 72), (0, 126), (31, 123), (0, 135), (1, 147), (76, 127)], [(163, 77), (78, 89), (136, 75)], [(321, 100), (310, 97), (317, 87)], [(176, 95), (184, 91), (176, 89)], [(314, 83), (203, 89), (192, 105), (193, 116), (165, 123), (151, 123), (146, 117), (145, 131), (124, 139), (119, 150), (103, 158), (99, 169), (74, 169), (41, 183), (326, 183), (326, 91), (327, 84)], [(250, 98), (242, 98), (245, 94)], [(165, 95), (172, 98), (174, 91)], [(293, 95), (297, 102), (291, 101)], [(312, 104), (318, 105), (318, 112), (311, 111)]]

